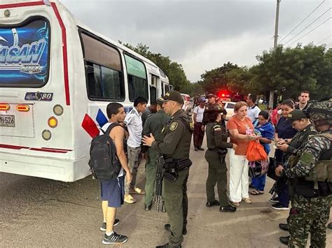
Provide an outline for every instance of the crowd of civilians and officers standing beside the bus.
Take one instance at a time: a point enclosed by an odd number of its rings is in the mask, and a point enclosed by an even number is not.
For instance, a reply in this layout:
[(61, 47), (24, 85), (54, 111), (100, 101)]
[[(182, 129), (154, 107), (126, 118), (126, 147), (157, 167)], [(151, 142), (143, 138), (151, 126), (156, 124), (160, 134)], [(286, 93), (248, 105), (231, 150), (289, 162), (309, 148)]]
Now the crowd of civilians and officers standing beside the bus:
[[(303, 91), (298, 105), (286, 99), (268, 112), (258, 108), (256, 96), (249, 94), (245, 102), (235, 104), (234, 116), (226, 122), (227, 112), (222, 103), (214, 94), (209, 94), (207, 99), (207, 104), (205, 99), (198, 100), (193, 118), (181, 109), (184, 102), (176, 91), (167, 92), (148, 111), (147, 101), (141, 97), (135, 99), (134, 108), (127, 115), (119, 103), (107, 106), (108, 125), (123, 123), (109, 134), (123, 168), (115, 180), (102, 182), (104, 222), (101, 230), (106, 231), (103, 243), (127, 241), (126, 236), (113, 231), (113, 226), (119, 223), (116, 207), (123, 202), (135, 203), (133, 194), (144, 194), (144, 209), (151, 210), (157, 161), (162, 156), (165, 161), (162, 200), (169, 217), (165, 229), (170, 235), (168, 242), (158, 247), (181, 247), (187, 233), (186, 184), (192, 164), (189, 159), (192, 134), (193, 146), (198, 152), (205, 150), (202, 143), (206, 133), (207, 207), (219, 206), (220, 212), (235, 212), (242, 202), (251, 203), (249, 194), (253, 197), (263, 194), (266, 175), (249, 177), (247, 150), (250, 143), (258, 143), (268, 156), (273, 144), (275, 155), (270, 158), (272, 176), (269, 176), (276, 181), (270, 190), (271, 207), (289, 210), (291, 202), (287, 223), (279, 224), (279, 228), (289, 231), (290, 235), (281, 237), (280, 241), (289, 247), (304, 247), (310, 232), (312, 247), (325, 247), (332, 193), (331, 170), (324, 180), (312, 176), (312, 170), (321, 168), (318, 164), (324, 168), (331, 166), (332, 101), (314, 103), (316, 105), (310, 107), (310, 94)], [(136, 185), (140, 154), (146, 159), (145, 189)], [(226, 154), (230, 161), (229, 182)], [(215, 186), (218, 198), (214, 194)]]

